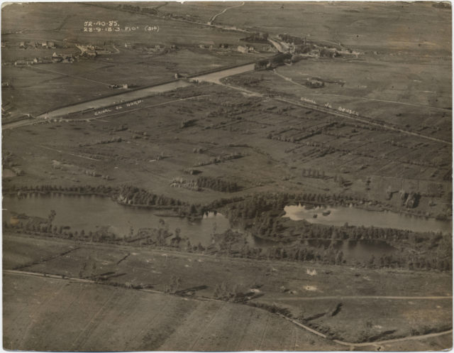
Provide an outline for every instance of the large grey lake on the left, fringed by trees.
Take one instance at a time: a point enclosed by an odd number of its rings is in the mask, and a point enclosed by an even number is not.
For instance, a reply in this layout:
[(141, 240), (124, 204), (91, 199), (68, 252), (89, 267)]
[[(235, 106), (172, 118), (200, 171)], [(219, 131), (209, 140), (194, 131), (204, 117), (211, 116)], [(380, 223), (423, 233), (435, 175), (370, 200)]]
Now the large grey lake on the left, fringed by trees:
[(192, 244), (199, 242), (203, 246), (211, 244), (211, 234), (225, 232), (230, 228), (228, 219), (214, 212), (203, 219), (191, 221), (180, 217), (160, 217), (153, 210), (138, 207), (126, 207), (99, 196), (74, 195), (28, 195), (26, 197), (5, 196), (3, 203), (3, 219), (11, 217), (11, 212), (25, 213), (28, 216), (48, 218), (50, 210), (55, 210), (52, 224), (70, 226), (74, 230), (85, 232), (96, 231), (99, 227), (109, 226), (109, 231), (118, 237), (129, 234), (133, 227), (134, 233), (139, 228), (157, 228), (159, 220), (164, 219), (165, 227), (170, 232), (181, 229), (181, 236), (188, 237)]

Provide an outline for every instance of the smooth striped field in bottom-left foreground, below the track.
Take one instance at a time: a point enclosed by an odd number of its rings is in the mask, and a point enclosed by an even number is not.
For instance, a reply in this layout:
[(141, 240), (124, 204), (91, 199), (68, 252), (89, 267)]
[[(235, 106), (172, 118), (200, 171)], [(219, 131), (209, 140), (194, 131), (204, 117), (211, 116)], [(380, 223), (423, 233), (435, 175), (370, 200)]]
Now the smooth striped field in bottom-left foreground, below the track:
[[(15, 274), (4, 276), (4, 288), (5, 349), (197, 351), (338, 347), (283, 318), (238, 304)], [(104, 339), (99, 340), (100, 337)]]

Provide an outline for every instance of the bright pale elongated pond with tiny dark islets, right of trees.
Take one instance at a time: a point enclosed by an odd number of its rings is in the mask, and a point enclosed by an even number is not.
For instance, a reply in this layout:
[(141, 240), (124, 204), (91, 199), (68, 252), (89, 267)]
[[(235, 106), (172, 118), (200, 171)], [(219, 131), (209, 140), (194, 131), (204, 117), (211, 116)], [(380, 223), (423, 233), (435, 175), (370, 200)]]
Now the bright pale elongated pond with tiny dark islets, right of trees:
[[(310, 207), (309, 207), (310, 208)], [(315, 207), (307, 209), (304, 205), (284, 207), (284, 217), (294, 221), (305, 219), (307, 222), (343, 226), (345, 222), (354, 226), (404, 229), (414, 232), (452, 233), (452, 221), (439, 221), (433, 218), (416, 217), (389, 211), (368, 211), (354, 207)], [(316, 217), (314, 217), (316, 215)]]

